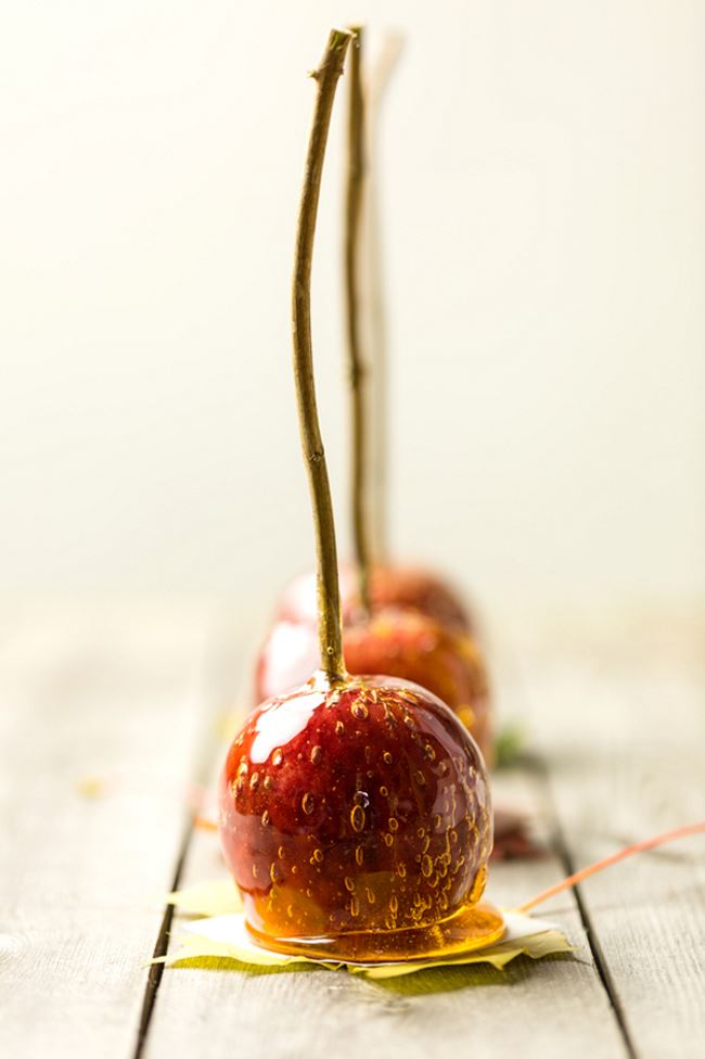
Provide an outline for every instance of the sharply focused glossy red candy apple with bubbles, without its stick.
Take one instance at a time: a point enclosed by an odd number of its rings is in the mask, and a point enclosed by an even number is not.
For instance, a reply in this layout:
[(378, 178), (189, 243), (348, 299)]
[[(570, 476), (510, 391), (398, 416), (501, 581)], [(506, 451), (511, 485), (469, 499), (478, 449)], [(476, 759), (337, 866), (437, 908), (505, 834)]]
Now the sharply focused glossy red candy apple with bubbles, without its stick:
[(219, 830), (269, 947), (405, 959), (502, 932), (477, 908), (492, 846), (482, 755), (407, 681), (318, 676), (255, 710), (225, 765)]

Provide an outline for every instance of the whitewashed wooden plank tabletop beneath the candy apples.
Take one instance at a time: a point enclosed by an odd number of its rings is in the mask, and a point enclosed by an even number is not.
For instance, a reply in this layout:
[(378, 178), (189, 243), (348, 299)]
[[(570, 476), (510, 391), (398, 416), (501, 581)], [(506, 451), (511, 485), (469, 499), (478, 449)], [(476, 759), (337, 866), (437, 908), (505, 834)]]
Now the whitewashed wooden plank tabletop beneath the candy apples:
[[(42, 604), (0, 618), (0, 1055), (130, 1059), (705, 1055), (705, 839), (626, 862), (543, 909), (574, 957), (386, 983), (345, 972), (149, 970), (164, 894), (221, 873), (188, 780), (222, 755), (246, 629), (195, 603)], [(550, 851), (496, 864), (527, 898), (705, 818), (702, 626), (692, 615), (527, 622), (491, 640), (530, 758), (496, 802)]]

